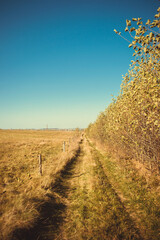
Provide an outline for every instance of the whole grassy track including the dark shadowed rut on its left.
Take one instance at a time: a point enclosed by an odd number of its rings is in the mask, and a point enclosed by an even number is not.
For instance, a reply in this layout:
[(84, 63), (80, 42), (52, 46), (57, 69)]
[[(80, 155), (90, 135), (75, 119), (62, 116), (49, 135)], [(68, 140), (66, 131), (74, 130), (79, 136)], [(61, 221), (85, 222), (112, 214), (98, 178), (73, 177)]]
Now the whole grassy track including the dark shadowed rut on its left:
[(143, 239), (85, 137), (51, 192), (36, 226), (14, 240)]

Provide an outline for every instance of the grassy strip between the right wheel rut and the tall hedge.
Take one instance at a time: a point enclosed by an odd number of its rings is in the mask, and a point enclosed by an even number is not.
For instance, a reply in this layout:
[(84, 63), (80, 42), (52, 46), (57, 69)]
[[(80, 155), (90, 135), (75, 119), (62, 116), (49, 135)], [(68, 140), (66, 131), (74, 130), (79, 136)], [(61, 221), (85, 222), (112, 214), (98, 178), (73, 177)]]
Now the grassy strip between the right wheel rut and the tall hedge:
[[(91, 144), (94, 147), (94, 144)], [(160, 179), (133, 159), (119, 159), (96, 144), (108, 179), (144, 239), (160, 236)], [(100, 149), (100, 150), (99, 150)]]

